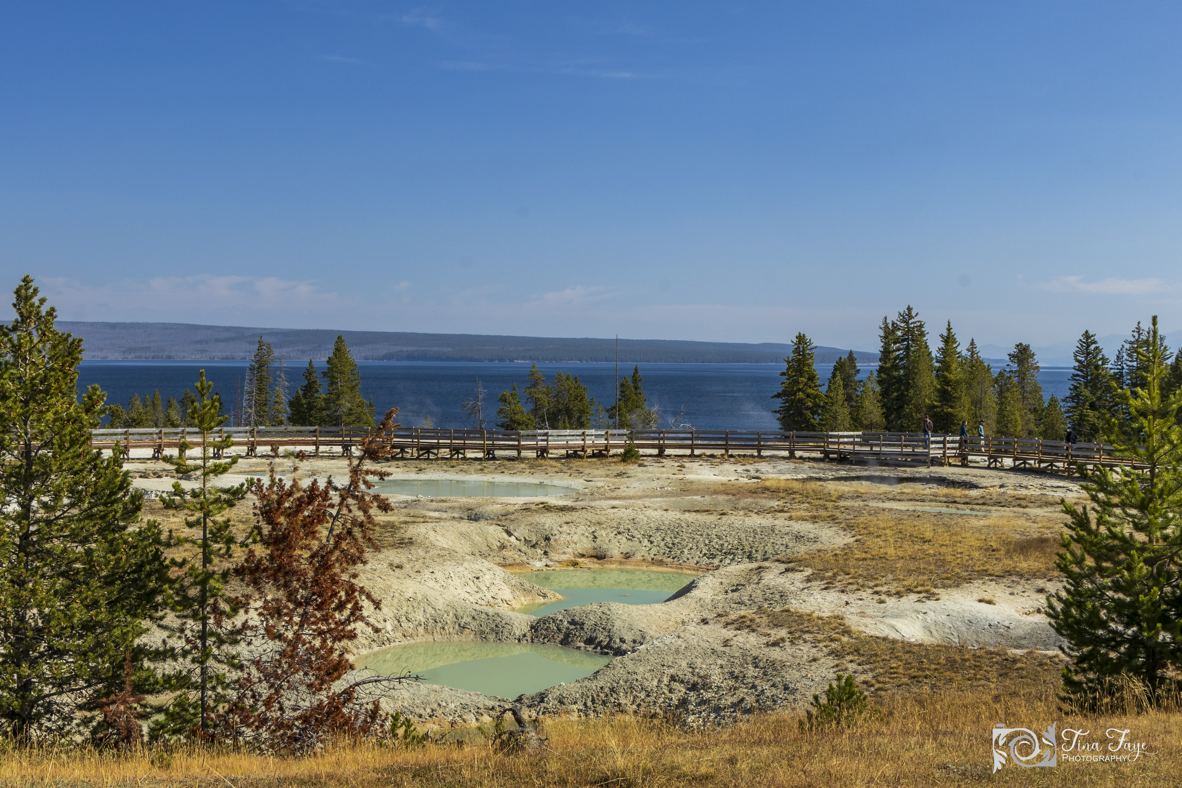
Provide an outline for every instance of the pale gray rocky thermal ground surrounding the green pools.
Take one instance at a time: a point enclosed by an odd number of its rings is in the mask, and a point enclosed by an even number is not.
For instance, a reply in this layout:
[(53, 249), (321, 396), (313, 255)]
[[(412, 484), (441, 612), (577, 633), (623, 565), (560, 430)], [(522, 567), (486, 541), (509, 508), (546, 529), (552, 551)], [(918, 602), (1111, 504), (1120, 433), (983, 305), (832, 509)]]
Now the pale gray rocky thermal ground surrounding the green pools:
[[(317, 461), (317, 470), (340, 473)], [(261, 465), (258, 461), (255, 464)], [(253, 468), (241, 463), (242, 470)], [(866, 469), (818, 462), (682, 458), (641, 467), (572, 460), (548, 463), (391, 463), (400, 477), (564, 483), (576, 491), (551, 499), (398, 497), (384, 527), (390, 546), (370, 556), (363, 582), (381, 600), (377, 633), (358, 652), (428, 639), (528, 640), (617, 658), (593, 676), (520, 699), (541, 714), (598, 715), (676, 710), (716, 719), (753, 709), (799, 705), (832, 679), (830, 660), (807, 644), (768, 646), (723, 630), (720, 613), (792, 607), (840, 613), (855, 629), (923, 643), (1051, 650), (1058, 639), (1041, 614), (1034, 581), (989, 580), (942, 590), (939, 600), (877, 599), (823, 590), (807, 573), (772, 559), (839, 545), (850, 535), (825, 522), (761, 510), (715, 486), (754, 478), (844, 481), (863, 484), (954, 486), (991, 493), (1072, 495), (1064, 477), (981, 468)], [(411, 473), (413, 471), (413, 473)], [(145, 488), (171, 483), (144, 474)], [(591, 566), (709, 569), (660, 605), (613, 603), (569, 608), (545, 618), (513, 612), (554, 598), (528, 581), (532, 568), (563, 562)], [(509, 567), (513, 572), (507, 571)], [(524, 574), (522, 574), (524, 573)], [(992, 597), (996, 604), (978, 599)], [(435, 723), (488, 719), (507, 699), (416, 685), (398, 706)]]

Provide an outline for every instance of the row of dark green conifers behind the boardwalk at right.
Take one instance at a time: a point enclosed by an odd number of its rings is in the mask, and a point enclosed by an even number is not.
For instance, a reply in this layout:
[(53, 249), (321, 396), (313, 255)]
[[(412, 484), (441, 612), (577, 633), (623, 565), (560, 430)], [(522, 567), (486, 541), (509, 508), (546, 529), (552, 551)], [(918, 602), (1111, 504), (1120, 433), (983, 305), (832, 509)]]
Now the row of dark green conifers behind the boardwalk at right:
[[(1109, 418), (1126, 417), (1118, 392), (1144, 385), (1150, 332), (1138, 323), (1111, 362), (1096, 336), (1085, 331), (1076, 345), (1071, 389), (1064, 402), (1044, 399), (1039, 364), (1025, 343), (1014, 345), (1008, 364), (994, 372), (970, 339), (961, 351), (948, 321), (936, 352), (928, 330), (910, 306), (883, 318), (878, 369), (858, 380), (853, 353), (833, 365), (823, 390), (808, 337), (792, 343), (780, 390), (772, 395), (780, 426), (800, 431), (888, 430), (917, 432), (930, 417), (936, 432), (957, 434), (960, 425), (983, 423), (987, 435), (1061, 441), (1071, 426), (1080, 439), (1099, 439)], [(1162, 356), (1169, 349), (1158, 339)], [(1174, 353), (1165, 395), (1182, 388), (1182, 352)]]

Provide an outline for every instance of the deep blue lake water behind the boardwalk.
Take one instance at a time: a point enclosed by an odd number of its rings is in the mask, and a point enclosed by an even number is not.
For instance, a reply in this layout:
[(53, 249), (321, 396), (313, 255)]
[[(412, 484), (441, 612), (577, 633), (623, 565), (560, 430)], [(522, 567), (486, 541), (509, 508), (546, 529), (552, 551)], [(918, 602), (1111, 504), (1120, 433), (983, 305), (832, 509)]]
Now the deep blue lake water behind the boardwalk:
[[(307, 362), (293, 362), (287, 367), (290, 391), (303, 383)], [(400, 408), (398, 421), (420, 426), (430, 417), (444, 429), (474, 428), (460, 408), (470, 399), (479, 378), (486, 390), (485, 426), (494, 429), (496, 397), (514, 383), (527, 384), (530, 364), (512, 362), (359, 362), (362, 393), (372, 398), (381, 415)], [(238, 390), (246, 377), (247, 362), (83, 362), (79, 385), (97, 383), (108, 392), (108, 402), (125, 404), (132, 393), (143, 396), (160, 389), (161, 397), (180, 398), (187, 386), (206, 370), (206, 377), (221, 393), (227, 410), (233, 409)], [(324, 363), (317, 363), (324, 370)], [(613, 364), (539, 364), (547, 379), (556, 372), (576, 375), (592, 397), (611, 404), (615, 391)], [(649, 404), (660, 408), (662, 426), (686, 404), (681, 423), (700, 430), (774, 430), (775, 404), (771, 396), (780, 385), (782, 364), (645, 364), (641, 367)], [(821, 380), (832, 366), (817, 365)], [(631, 365), (621, 364), (621, 375), (630, 375)], [(865, 373), (865, 370), (863, 370)], [(1067, 393), (1071, 370), (1047, 369), (1039, 373), (1046, 396), (1060, 399)]]

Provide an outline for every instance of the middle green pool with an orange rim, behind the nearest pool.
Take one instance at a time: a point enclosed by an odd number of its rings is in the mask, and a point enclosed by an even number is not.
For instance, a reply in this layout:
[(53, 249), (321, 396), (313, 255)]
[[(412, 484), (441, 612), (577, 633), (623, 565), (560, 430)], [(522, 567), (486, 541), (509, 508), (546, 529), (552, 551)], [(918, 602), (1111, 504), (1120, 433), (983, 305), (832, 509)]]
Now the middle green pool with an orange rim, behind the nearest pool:
[(548, 616), (567, 607), (593, 603), (655, 605), (694, 581), (695, 575), (643, 569), (565, 569), (531, 572), (521, 575), (530, 582), (563, 594), (552, 603), (519, 607), (519, 613)]

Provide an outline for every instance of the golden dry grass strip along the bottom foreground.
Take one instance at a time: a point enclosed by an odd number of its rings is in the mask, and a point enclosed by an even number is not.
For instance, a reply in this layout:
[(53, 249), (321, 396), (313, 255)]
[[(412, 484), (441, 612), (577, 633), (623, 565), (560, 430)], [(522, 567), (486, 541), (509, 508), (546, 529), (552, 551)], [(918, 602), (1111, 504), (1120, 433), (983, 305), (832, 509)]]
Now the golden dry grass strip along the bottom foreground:
[[(199, 749), (118, 754), (13, 750), (4, 786), (1177, 786), (1182, 715), (1065, 716), (1053, 696), (904, 693), (877, 699), (881, 714), (851, 732), (808, 734), (799, 717), (756, 716), (732, 728), (689, 731), (667, 719), (554, 719), (548, 749), (502, 755), (483, 744), (417, 750), (342, 743), (311, 757)], [(1136, 763), (1014, 766), (992, 771), (989, 730), (1005, 722), (1041, 730), (1058, 723), (1104, 741), (1131, 729), (1156, 755)]]

